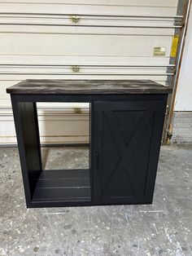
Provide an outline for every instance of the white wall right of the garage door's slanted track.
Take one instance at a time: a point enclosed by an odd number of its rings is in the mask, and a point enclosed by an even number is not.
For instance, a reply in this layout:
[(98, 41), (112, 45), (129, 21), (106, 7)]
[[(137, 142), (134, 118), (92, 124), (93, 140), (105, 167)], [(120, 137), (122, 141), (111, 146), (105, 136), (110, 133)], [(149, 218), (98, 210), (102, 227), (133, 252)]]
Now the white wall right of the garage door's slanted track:
[(192, 8), (174, 110), (192, 111)]

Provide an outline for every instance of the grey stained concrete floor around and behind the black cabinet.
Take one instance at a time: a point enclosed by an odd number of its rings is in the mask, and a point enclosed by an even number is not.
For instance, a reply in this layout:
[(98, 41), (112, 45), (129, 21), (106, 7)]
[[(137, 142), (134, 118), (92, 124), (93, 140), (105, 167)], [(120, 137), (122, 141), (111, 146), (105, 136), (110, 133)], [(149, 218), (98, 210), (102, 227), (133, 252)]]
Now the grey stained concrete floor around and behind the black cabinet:
[[(43, 159), (86, 167), (88, 150), (45, 148)], [(192, 146), (164, 146), (153, 205), (27, 210), (17, 148), (0, 148), (0, 255), (192, 255), (191, 170)]]

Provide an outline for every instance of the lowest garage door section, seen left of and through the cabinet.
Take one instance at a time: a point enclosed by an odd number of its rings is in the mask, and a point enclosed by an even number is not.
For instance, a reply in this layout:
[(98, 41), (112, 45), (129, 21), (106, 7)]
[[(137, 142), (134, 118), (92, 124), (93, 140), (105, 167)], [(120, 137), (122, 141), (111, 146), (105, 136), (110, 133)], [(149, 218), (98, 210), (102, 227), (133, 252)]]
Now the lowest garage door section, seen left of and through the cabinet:
[[(0, 108), (0, 143), (16, 143), (12, 113)], [(89, 141), (89, 115), (49, 113), (38, 115), (41, 143), (87, 143)], [(54, 134), (53, 134), (54, 130)], [(6, 131), (6, 136), (3, 132)]]

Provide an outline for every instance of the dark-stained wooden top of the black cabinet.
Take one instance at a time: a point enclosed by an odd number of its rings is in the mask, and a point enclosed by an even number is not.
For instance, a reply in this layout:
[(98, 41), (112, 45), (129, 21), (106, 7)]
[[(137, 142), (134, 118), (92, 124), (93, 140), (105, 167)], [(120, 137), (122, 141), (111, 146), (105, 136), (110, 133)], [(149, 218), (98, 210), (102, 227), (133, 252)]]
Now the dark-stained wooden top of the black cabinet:
[(168, 94), (169, 86), (150, 80), (33, 80), (7, 88), (12, 95), (129, 95)]

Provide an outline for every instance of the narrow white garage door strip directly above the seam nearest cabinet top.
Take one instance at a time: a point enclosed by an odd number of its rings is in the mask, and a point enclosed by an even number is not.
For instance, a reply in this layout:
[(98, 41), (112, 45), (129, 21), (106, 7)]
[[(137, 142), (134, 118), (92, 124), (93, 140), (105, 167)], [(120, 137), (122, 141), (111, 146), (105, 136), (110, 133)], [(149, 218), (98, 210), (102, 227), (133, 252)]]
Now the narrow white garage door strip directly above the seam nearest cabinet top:
[(7, 55), (2, 54), (0, 65), (3, 64), (36, 64), (36, 65), (152, 65), (152, 66), (168, 66), (169, 56), (88, 56), (88, 55)]

